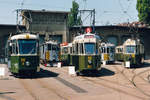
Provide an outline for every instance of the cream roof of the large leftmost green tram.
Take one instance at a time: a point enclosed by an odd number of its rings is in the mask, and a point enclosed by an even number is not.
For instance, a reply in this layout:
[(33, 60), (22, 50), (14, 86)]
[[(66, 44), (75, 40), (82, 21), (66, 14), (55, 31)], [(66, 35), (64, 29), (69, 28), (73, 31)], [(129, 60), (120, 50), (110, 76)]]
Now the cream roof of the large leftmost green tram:
[(30, 33), (22, 33), (18, 35), (14, 35), (10, 38), (11, 40), (15, 39), (38, 39), (37, 35), (30, 34)]

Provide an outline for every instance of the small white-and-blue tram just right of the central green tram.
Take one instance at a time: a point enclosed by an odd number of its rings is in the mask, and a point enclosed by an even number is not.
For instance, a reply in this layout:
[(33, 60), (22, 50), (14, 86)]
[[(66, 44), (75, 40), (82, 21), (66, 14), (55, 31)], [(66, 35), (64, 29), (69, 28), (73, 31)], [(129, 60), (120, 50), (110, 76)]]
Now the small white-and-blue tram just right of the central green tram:
[(113, 63), (115, 61), (115, 45), (112, 43), (101, 43), (101, 62)]

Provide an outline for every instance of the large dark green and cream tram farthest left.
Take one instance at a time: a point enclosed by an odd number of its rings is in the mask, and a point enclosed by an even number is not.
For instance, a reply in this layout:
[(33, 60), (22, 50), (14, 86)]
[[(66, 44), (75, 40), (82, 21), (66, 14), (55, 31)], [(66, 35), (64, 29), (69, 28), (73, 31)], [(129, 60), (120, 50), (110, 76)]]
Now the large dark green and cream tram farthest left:
[(35, 74), (39, 71), (39, 38), (22, 33), (7, 42), (8, 68), (13, 74)]

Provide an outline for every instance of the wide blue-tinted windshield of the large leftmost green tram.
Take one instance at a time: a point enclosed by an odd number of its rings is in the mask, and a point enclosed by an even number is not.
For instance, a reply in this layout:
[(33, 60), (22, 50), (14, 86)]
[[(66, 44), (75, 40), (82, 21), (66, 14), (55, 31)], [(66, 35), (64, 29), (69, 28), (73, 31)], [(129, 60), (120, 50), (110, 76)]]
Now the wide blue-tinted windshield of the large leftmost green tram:
[(36, 40), (18, 40), (20, 54), (35, 54)]

